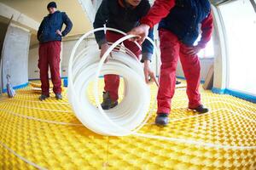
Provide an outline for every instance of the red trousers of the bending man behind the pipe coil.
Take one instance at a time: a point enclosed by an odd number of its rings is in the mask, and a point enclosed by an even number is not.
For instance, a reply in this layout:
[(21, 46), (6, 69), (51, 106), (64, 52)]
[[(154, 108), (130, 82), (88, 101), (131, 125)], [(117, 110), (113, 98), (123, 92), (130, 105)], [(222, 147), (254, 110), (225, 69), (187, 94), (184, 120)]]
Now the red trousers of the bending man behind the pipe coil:
[[(107, 41), (108, 42), (116, 42), (119, 40), (119, 38), (124, 37), (123, 35), (119, 33), (115, 33), (113, 31), (107, 31)], [(137, 45), (134, 42), (126, 40), (124, 42), (124, 45), (126, 48), (130, 49), (133, 54), (137, 56), (139, 59), (139, 56), (141, 54), (140, 48), (137, 47)], [(117, 75), (105, 75), (104, 76), (104, 82), (105, 87), (104, 90), (109, 93), (110, 98), (115, 101), (119, 99), (119, 76)]]

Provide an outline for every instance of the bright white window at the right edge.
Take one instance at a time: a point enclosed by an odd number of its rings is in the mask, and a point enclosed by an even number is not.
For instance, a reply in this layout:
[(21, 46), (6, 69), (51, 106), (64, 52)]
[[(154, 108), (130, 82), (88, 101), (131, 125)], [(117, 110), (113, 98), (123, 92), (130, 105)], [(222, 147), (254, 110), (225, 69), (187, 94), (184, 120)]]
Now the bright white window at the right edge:
[(219, 7), (228, 48), (228, 88), (256, 96), (256, 14), (252, 3), (237, 0)]

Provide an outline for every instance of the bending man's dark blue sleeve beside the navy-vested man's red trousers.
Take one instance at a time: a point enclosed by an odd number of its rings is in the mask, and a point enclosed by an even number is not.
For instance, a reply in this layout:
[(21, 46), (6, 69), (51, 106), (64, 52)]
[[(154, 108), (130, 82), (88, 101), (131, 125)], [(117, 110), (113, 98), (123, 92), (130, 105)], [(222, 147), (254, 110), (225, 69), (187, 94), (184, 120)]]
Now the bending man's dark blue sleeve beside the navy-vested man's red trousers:
[[(154, 28), (150, 29), (148, 31), (148, 37), (154, 42)], [(143, 48), (142, 48), (142, 54), (143, 54), (143, 58), (142, 58), (142, 62), (145, 59), (151, 60), (152, 55), (153, 55), (153, 50), (154, 50), (154, 46), (151, 42), (149, 42), (147, 39), (143, 42)]]

